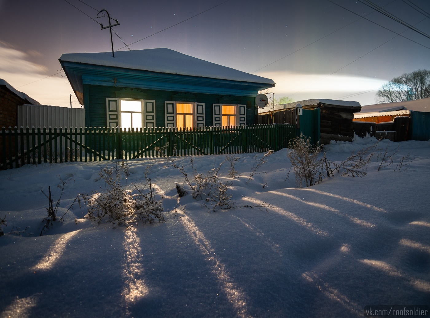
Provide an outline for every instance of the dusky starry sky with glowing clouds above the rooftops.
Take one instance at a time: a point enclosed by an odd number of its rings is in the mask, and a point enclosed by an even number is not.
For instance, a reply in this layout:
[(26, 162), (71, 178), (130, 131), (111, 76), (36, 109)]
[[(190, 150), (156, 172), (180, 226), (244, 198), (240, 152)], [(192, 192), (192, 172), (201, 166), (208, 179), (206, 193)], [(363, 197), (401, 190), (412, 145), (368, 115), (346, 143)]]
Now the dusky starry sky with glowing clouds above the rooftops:
[[(328, 0), (67, 1), (0, 0), (0, 78), (45, 105), (69, 106), (72, 94), (79, 107), (64, 72), (42, 78), (61, 71), (63, 53), (111, 50), (109, 29), (87, 16), (101, 9), (118, 20), (113, 30), (127, 45), (150, 36), (129, 45), (132, 50), (165, 47), (264, 76), (275, 81), (276, 97), (296, 101), (372, 104), (394, 76), (430, 69), (430, 39), (356, 0), (332, 1), (357, 15)], [(411, 1), (430, 13), (430, 1)], [(430, 34), (430, 18), (407, 0), (372, 2)], [(107, 17), (96, 20), (108, 24)], [(113, 39), (115, 50), (128, 50), (115, 33)]]

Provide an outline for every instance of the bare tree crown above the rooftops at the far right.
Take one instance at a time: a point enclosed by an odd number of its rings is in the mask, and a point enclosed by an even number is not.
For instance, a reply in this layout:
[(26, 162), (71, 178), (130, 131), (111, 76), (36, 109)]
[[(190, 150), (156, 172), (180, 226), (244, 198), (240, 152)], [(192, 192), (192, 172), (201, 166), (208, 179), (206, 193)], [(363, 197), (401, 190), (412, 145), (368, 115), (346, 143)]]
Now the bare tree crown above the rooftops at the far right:
[(376, 92), (378, 103), (403, 102), (430, 97), (430, 71), (417, 70), (394, 77)]

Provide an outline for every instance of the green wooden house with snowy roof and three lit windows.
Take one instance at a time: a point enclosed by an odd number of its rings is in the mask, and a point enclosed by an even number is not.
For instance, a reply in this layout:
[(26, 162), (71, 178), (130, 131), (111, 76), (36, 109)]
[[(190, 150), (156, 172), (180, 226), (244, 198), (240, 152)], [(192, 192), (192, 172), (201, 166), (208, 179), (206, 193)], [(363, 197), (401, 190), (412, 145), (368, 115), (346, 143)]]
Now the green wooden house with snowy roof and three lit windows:
[(63, 54), (86, 127), (203, 127), (256, 124), (255, 96), (271, 79), (168, 48)]

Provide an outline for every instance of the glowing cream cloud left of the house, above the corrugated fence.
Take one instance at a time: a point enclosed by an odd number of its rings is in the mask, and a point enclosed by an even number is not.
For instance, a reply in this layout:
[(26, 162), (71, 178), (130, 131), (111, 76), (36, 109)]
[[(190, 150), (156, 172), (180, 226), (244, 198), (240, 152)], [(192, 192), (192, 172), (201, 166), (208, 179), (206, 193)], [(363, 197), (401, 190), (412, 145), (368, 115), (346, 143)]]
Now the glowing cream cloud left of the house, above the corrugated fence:
[(67, 78), (61, 77), (64, 73), (44, 79), (58, 72), (29, 61), (29, 55), (40, 53), (29, 51), (27, 54), (0, 41), (0, 78), (42, 105), (70, 107), (69, 94), (72, 94), (72, 105), (80, 107)]

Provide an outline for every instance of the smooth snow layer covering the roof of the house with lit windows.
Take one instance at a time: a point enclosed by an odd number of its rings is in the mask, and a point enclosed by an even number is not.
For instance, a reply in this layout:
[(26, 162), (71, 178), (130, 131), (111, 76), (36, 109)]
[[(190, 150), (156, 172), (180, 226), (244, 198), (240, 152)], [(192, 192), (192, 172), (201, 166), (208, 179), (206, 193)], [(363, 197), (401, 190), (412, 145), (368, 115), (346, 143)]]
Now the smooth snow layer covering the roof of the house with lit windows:
[(114, 58), (112, 57), (112, 52), (68, 53), (61, 55), (60, 61), (208, 77), (213, 79), (227, 79), (240, 82), (275, 84), (271, 79), (201, 60), (200, 58), (194, 58), (169, 48), (118, 51), (115, 52)]

